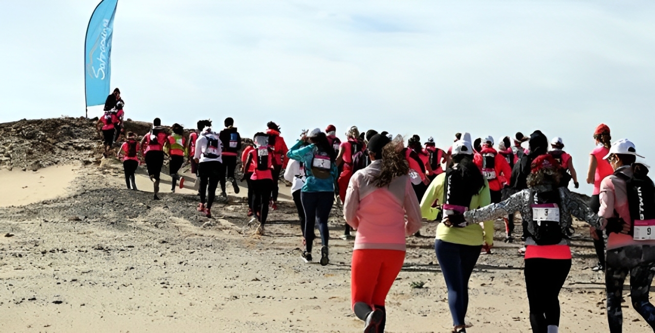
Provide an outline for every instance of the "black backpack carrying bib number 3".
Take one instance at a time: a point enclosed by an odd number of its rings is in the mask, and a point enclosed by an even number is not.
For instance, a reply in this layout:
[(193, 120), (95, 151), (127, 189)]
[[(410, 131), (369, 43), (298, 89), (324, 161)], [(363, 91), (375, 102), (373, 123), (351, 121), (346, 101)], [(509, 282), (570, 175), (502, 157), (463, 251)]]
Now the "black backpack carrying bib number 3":
[(530, 202), (534, 232), (532, 238), (537, 245), (557, 245), (564, 233), (561, 227), (561, 203), (557, 190), (531, 192)]

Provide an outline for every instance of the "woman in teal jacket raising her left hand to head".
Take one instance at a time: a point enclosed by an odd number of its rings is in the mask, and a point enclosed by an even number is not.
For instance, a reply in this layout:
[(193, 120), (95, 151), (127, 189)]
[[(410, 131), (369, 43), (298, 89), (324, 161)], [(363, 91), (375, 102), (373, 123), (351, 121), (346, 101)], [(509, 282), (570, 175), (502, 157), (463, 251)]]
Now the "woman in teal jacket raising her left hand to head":
[(303, 209), (305, 209), (305, 251), (303, 258), (312, 260), (312, 244), (314, 243), (314, 225), (318, 225), (321, 234), (322, 266), (329, 262), (327, 243), (329, 231), (327, 218), (334, 203), (334, 183), (337, 180), (337, 154), (327, 142), (326, 134), (320, 128), (315, 128), (309, 135), (301, 139), (287, 152), (288, 158), (305, 165), (307, 181), (300, 194)]

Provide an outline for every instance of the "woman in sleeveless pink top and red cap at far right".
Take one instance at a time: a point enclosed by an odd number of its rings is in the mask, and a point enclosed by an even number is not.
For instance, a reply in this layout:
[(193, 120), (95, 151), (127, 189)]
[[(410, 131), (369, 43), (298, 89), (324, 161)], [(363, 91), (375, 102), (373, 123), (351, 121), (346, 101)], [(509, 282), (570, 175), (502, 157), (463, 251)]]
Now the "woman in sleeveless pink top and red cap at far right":
[[(610, 152), (612, 140), (610, 128), (605, 124), (600, 124), (593, 132), (593, 139), (596, 142), (596, 148), (591, 150), (589, 154), (587, 184), (593, 184), (593, 195), (591, 196), (589, 207), (591, 207), (594, 213), (598, 213), (601, 207), (601, 182), (605, 177), (614, 172), (607, 160), (603, 160), (603, 157), (607, 156)], [(596, 256), (598, 257), (598, 264), (596, 267), (591, 268), (591, 270), (594, 272), (605, 272), (605, 239), (603, 239), (603, 232), (591, 227), (589, 228), (589, 234), (593, 238), (593, 248), (596, 250)]]

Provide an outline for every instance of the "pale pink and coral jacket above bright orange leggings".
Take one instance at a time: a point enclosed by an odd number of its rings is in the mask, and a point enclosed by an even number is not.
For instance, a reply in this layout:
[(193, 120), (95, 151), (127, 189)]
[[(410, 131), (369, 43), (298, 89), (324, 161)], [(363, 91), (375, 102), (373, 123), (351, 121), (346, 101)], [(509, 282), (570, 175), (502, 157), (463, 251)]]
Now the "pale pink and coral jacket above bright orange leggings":
[(419, 200), (408, 175), (397, 177), (388, 186), (375, 186), (373, 178), (381, 167), (382, 161), (375, 160), (352, 175), (343, 216), (357, 229), (354, 249), (405, 251), (405, 235), (421, 229)]

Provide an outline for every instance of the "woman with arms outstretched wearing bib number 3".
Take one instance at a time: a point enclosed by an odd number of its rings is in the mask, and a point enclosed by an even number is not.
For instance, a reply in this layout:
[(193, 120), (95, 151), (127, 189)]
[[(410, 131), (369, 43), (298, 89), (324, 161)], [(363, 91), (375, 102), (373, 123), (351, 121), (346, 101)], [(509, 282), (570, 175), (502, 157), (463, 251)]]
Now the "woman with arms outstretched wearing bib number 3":
[(453, 211), (443, 221), (446, 226), (456, 229), (521, 212), (530, 233), (525, 241), (523, 272), (530, 324), (536, 333), (557, 333), (559, 330), (559, 290), (571, 270), (571, 215), (598, 228), (603, 222), (584, 202), (571, 196), (567, 188), (559, 186), (562, 173), (553, 156), (540, 155), (531, 164), (526, 190), (503, 202), (463, 214)]

